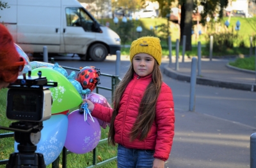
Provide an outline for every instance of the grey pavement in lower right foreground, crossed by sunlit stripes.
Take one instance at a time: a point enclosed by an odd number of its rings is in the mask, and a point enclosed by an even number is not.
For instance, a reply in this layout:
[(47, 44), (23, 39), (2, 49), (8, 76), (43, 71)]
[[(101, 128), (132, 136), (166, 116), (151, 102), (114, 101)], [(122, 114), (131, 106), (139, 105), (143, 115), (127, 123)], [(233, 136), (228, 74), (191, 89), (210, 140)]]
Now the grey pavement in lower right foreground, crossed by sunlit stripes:
[(175, 118), (173, 147), (164, 167), (250, 167), (255, 128), (196, 112), (175, 110)]

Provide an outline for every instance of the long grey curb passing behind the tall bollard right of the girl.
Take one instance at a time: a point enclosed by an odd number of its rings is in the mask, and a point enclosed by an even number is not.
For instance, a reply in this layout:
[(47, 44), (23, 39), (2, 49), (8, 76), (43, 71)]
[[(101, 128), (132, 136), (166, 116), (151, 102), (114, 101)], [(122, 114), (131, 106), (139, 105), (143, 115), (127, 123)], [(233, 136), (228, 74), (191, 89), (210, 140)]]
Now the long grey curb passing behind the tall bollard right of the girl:
[[(190, 83), (189, 75), (174, 71), (172, 68), (168, 66), (164, 67), (163, 73), (166, 74), (166, 76), (169, 76), (170, 78), (173, 78), (175, 80), (187, 81)], [(256, 92), (256, 83), (237, 83), (233, 81), (214, 80), (211, 78), (202, 78), (200, 76), (196, 76), (196, 84)]]

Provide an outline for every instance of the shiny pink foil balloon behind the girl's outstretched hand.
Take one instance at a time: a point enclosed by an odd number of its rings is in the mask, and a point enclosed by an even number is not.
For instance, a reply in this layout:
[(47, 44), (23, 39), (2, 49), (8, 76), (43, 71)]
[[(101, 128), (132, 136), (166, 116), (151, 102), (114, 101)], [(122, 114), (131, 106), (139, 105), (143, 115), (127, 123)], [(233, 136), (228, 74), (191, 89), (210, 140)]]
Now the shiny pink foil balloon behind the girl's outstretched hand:
[[(103, 95), (100, 95), (100, 94), (96, 94), (96, 93), (93, 93), (91, 92), (90, 94), (87, 95), (87, 99), (91, 102), (93, 102), (93, 104), (95, 103), (98, 103), (98, 104), (101, 104), (102, 106), (104, 107), (108, 107), (108, 108), (111, 108), (111, 106), (109, 105), (106, 97), (104, 97)], [(104, 122), (100, 119), (98, 119), (98, 122), (100, 124), (100, 126), (103, 128), (103, 129), (106, 129), (107, 125), (109, 125), (109, 123), (107, 122)]]

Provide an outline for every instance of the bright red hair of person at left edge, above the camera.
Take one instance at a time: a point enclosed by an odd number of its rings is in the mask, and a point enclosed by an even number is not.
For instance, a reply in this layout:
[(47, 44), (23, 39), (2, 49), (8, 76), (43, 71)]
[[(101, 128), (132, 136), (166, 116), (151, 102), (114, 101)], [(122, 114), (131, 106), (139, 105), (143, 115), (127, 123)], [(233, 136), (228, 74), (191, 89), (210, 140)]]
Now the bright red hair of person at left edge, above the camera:
[(0, 90), (17, 80), (24, 65), (25, 60), (17, 52), (12, 35), (0, 24)]

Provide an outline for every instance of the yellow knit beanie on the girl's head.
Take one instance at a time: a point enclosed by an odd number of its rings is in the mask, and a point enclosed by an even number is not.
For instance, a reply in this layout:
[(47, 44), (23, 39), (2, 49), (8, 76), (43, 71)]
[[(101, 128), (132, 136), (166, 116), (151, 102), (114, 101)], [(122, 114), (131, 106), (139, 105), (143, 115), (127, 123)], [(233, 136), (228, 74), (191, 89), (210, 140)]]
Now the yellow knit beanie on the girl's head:
[(156, 59), (157, 63), (160, 66), (162, 60), (162, 47), (160, 44), (160, 39), (156, 37), (145, 36), (132, 41), (130, 48), (131, 62), (132, 58), (137, 53), (148, 53), (149, 55), (154, 57), (154, 59)]

